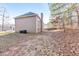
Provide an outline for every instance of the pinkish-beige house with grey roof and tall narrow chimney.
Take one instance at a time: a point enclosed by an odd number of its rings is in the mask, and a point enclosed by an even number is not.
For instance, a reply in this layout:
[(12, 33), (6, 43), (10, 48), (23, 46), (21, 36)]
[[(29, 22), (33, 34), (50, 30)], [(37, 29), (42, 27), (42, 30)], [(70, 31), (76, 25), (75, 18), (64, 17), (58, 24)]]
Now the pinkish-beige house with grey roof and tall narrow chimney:
[(31, 33), (41, 32), (42, 20), (43, 13), (41, 13), (41, 17), (33, 12), (17, 16), (15, 17), (15, 32), (19, 32), (20, 30), (27, 30), (27, 32)]

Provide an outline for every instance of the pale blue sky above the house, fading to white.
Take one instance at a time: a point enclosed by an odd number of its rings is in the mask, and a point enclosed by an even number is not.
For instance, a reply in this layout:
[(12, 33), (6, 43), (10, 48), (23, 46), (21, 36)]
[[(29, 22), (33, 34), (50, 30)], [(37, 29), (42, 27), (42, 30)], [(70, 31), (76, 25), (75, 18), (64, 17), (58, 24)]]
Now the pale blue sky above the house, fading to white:
[(47, 3), (0, 3), (0, 7), (5, 7), (11, 20), (14, 23), (14, 17), (25, 14), (27, 12), (34, 12), (40, 16), (43, 13), (43, 22), (49, 22), (50, 11)]

